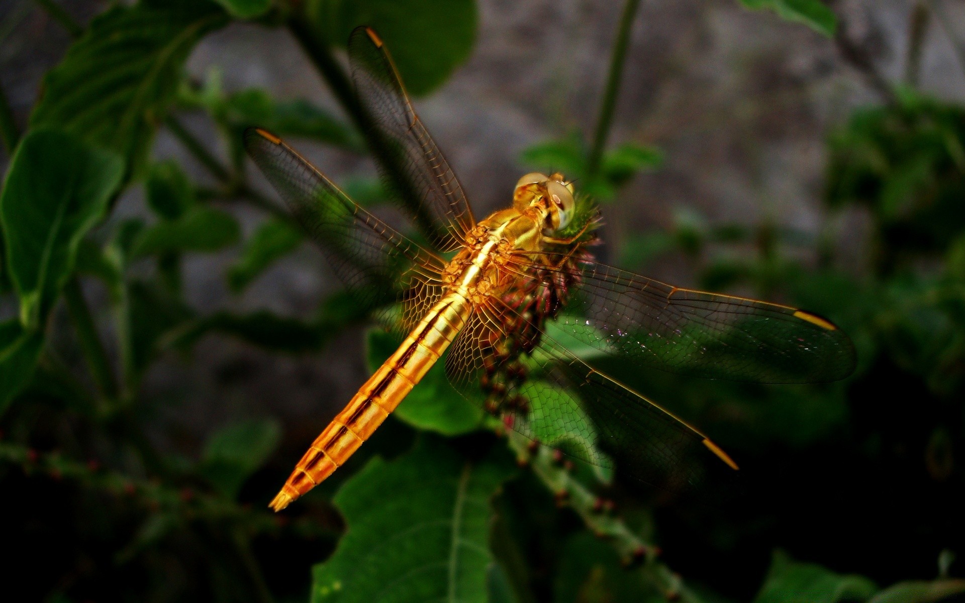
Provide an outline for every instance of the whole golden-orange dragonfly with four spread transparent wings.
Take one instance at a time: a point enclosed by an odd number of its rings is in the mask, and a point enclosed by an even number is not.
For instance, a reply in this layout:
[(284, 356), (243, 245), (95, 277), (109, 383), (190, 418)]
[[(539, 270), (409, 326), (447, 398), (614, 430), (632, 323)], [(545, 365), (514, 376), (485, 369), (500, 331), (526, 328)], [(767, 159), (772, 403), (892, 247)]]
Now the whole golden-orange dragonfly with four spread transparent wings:
[(575, 347), (640, 367), (765, 383), (833, 381), (854, 369), (851, 342), (819, 315), (594, 260), (599, 211), (562, 174), (524, 175), (510, 207), (477, 220), (371, 28), (352, 32), (348, 58), (367, 140), (415, 234), (353, 202), (274, 134), (249, 128), (245, 148), (352, 298), (404, 339), (298, 461), (270, 503), (276, 511), (344, 465), (440, 361), (453, 385), (475, 392), (466, 397), (507, 428), (673, 488), (737, 464)]

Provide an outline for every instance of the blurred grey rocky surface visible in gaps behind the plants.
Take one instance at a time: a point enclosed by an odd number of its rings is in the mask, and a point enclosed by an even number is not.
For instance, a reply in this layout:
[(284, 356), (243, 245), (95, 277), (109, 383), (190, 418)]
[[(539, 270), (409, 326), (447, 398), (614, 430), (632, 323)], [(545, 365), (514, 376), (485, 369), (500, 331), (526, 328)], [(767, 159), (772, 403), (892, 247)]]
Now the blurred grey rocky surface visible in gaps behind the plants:
[[(86, 22), (105, 2), (64, 0)], [(506, 205), (520, 176), (519, 151), (538, 141), (593, 127), (610, 44), (622, 3), (615, 0), (479, 0), (479, 35), (469, 62), (437, 93), (417, 102), (440, 147), (468, 189), (477, 214)], [(935, 0), (944, 19), (927, 30), (921, 87), (946, 99), (965, 97), (965, 2)], [(905, 69), (911, 0), (847, 0), (835, 5), (849, 40), (869, 51), (884, 78)], [(955, 45), (955, 40), (958, 46)], [(0, 81), (19, 122), (26, 123), (41, 77), (69, 44), (60, 26), (32, 0), (0, 4)], [(234, 25), (204, 41), (189, 62), (204, 76), (224, 73), (227, 90), (262, 86), (280, 97), (306, 96), (336, 109), (315, 70), (281, 30)], [(817, 233), (824, 140), (856, 106), (880, 102), (867, 73), (841, 58), (835, 41), (775, 14), (750, 12), (736, 0), (645, 0), (637, 15), (611, 141), (664, 151), (664, 166), (636, 178), (607, 208), (604, 236), (667, 228), (689, 208), (711, 221), (777, 224)], [(204, 116), (186, 123), (214, 144)], [(363, 158), (298, 145), (339, 179), (372, 173)], [(162, 133), (158, 156), (177, 155), (199, 180), (207, 175)], [(4, 169), (7, 157), (0, 158)], [(145, 214), (140, 192), (120, 215)], [(261, 220), (238, 216), (246, 232)], [(860, 239), (860, 214), (834, 216), (841, 244)], [(859, 245), (850, 245), (858, 248)], [(604, 252), (606, 253), (606, 252)], [(198, 309), (268, 308), (311, 315), (338, 284), (306, 246), (272, 268), (240, 297), (224, 285), (236, 250), (185, 264), (190, 302)], [(860, 269), (862, 259), (849, 259)], [(648, 274), (687, 284), (687, 264), (665, 258)], [(88, 288), (93, 299), (103, 291)], [(12, 310), (12, 309), (7, 309)], [(101, 315), (105, 323), (107, 315)], [(193, 453), (212, 428), (240, 417), (276, 416), (286, 424), (292, 461), (366, 376), (360, 329), (323, 353), (280, 357), (234, 340), (208, 337), (191, 359), (172, 355), (147, 380), (157, 413), (156, 437)]]

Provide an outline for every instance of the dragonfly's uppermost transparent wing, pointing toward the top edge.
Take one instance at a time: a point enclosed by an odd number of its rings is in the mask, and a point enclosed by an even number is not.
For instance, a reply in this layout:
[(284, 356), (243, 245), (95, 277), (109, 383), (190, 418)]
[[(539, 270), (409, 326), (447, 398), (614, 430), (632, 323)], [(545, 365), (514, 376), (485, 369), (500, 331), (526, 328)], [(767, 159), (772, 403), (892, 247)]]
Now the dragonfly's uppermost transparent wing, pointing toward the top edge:
[(366, 27), (352, 32), (348, 59), (383, 176), (429, 240), (443, 252), (455, 251), (476, 219), (449, 162), (412, 108), (392, 59)]

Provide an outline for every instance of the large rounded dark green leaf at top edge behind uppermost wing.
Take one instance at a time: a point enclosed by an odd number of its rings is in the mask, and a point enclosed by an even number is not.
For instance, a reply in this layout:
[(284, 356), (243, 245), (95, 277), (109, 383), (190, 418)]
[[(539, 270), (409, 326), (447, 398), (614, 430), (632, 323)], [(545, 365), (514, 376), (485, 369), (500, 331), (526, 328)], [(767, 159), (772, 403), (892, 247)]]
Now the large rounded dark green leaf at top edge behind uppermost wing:
[(315, 0), (309, 9), (332, 43), (345, 45), (359, 25), (372, 27), (415, 96), (438, 88), (469, 58), (476, 13), (474, 0)]

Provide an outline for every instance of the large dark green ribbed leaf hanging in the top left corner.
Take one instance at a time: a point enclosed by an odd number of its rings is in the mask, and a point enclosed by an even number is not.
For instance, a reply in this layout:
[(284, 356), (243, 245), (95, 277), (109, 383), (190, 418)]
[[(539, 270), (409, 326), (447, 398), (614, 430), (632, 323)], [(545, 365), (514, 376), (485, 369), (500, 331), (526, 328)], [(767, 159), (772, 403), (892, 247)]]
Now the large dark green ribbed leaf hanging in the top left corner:
[(31, 126), (60, 126), (117, 151), (129, 174), (147, 156), (188, 54), (227, 22), (206, 0), (121, 5), (96, 16), (44, 77)]

